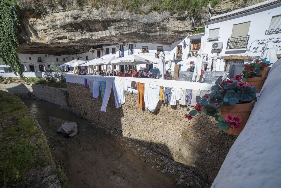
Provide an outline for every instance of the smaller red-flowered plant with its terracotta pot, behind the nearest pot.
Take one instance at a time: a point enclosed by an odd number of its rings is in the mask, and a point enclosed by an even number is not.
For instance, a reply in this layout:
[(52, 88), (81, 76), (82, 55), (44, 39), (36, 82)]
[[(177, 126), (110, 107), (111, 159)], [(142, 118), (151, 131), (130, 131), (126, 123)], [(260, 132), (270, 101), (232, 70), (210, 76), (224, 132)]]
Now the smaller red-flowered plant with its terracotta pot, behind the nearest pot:
[(266, 76), (262, 76), (260, 70), (262, 64), (259, 62), (244, 64), (245, 68), (242, 71), (243, 78), (246, 78), (246, 82), (252, 86), (258, 88), (256, 93), (260, 93), (260, 90), (263, 87)]

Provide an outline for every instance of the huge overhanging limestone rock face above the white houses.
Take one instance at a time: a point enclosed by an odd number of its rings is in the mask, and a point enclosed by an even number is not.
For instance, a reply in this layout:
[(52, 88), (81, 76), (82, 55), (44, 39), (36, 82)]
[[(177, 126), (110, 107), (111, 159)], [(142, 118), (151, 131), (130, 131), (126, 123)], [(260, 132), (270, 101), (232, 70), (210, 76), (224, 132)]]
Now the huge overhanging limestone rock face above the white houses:
[[(90, 6), (83, 10), (75, 7), (66, 10), (60, 6), (50, 8), (43, 2), (40, 5), (37, 1), (44, 11), (20, 7), (21, 44), (18, 53), (78, 54), (104, 44), (126, 41), (171, 44), (202, 26), (208, 12), (207, 7), (203, 8), (205, 13), (190, 26), (188, 12), (185, 15), (171, 15), (170, 12), (139, 15), (123, 11), (112, 13), (109, 8), (97, 10)], [(212, 15), (260, 1), (223, 0), (213, 9)]]

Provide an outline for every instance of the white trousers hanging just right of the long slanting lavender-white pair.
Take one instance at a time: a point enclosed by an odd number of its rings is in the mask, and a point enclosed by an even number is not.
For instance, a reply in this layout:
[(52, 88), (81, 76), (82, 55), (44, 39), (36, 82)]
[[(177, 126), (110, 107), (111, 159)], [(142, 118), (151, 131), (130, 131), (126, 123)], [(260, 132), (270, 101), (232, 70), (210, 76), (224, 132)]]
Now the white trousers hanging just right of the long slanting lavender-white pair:
[(121, 107), (121, 104), (125, 103), (125, 91), (124, 91), (124, 80), (114, 80), (113, 81), (113, 91), (115, 107)]

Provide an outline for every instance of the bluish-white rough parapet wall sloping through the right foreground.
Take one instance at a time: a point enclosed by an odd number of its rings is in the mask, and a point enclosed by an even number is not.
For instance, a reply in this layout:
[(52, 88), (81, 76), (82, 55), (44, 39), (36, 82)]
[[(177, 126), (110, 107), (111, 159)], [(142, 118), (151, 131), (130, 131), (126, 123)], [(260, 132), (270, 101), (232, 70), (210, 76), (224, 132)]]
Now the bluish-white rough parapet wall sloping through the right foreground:
[(212, 188), (281, 187), (281, 59), (266, 79), (250, 118)]

